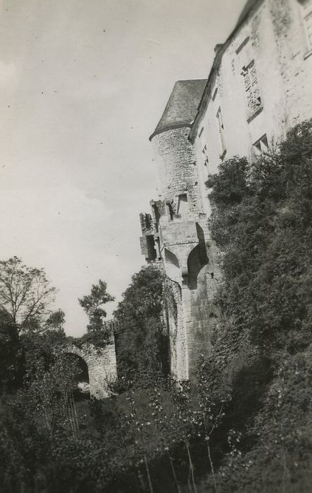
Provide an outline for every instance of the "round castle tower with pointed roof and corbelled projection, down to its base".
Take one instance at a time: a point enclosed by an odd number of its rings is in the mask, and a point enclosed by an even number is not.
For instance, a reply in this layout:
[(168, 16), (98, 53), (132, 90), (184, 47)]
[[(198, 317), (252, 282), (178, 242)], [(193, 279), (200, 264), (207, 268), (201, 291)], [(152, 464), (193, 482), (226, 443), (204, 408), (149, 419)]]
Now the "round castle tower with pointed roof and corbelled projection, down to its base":
[(205, 84), (206, 80), (175, 83), (150, 137), (161, 200), (151, 201), (151, 216), (141, 215), (142, 253), (147, 261), (161, 258), (168, 280), (170, 368), (177, 380), (194, 378), (199, 354), (211, 347), (217, 318), (212, 303), (220, 277), (217, 252), (204, 211), (194, 148), (189, 142)]

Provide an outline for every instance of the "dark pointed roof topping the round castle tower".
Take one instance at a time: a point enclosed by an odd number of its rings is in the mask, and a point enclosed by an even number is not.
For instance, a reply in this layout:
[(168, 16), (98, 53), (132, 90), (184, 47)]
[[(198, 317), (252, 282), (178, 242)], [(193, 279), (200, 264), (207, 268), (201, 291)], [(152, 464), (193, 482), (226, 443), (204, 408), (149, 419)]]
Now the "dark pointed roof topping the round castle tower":
[(190, 127), (197, 113), (206, 79), (178, 80), (163, 112), (163, 116), (149, 139), (175, 127)]

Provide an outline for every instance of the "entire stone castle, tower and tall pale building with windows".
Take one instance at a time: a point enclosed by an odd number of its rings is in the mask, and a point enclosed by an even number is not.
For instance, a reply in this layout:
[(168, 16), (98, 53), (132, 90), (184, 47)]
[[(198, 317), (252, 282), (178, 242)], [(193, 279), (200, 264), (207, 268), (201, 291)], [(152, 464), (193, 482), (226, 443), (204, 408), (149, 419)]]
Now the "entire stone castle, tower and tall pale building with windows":
[(141, 248), (170, 285), (170, 368), (194, 377), (218, 322), (220, 252), (205, 182), (233, 156), (249, 160), (312, 116), (312, 0), (248, 0), (207, 80), (175, 83), (150, 137), (161, 196), (142, 213)]

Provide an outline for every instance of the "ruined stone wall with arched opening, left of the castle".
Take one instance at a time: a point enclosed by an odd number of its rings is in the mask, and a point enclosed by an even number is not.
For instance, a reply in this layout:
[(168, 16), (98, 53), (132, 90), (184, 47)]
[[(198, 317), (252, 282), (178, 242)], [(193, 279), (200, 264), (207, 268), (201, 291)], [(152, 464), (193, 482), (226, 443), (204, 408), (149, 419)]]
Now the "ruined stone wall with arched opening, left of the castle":
[(70, 345), (66, 353), (77, 354), (87, 363), (89, 373), (90, 396), (105, 399), (109, 396), (109, 384), (117, 379), (115, 344), (97, 348), (93, 344), (81, 347)]

